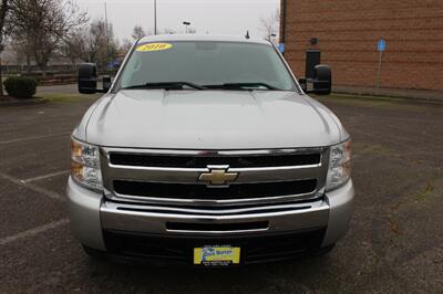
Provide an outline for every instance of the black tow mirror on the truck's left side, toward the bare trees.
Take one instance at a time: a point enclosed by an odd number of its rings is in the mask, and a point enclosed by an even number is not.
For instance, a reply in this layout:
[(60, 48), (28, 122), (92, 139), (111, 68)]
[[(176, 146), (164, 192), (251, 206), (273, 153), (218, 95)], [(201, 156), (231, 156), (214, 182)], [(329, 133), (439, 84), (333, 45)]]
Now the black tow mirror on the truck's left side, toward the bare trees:
[(83, 63), (79, 67), (79, 92), (82, 94), (106, 93), (110, 91), (111, 76), (103, 76), (103, 90), (97, 88), (97, 70), (94, 63)]

